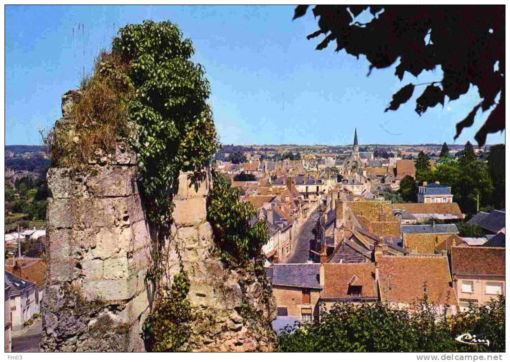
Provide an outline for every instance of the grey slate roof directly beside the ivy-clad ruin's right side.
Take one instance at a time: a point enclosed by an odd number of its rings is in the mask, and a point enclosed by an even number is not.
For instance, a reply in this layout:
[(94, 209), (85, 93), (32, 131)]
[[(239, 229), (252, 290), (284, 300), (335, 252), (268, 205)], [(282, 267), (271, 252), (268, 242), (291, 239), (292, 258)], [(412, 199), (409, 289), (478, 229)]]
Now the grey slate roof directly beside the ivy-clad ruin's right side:
[(274, 264), (273, 286), (321, 289), (319, 283), (320, 264)]

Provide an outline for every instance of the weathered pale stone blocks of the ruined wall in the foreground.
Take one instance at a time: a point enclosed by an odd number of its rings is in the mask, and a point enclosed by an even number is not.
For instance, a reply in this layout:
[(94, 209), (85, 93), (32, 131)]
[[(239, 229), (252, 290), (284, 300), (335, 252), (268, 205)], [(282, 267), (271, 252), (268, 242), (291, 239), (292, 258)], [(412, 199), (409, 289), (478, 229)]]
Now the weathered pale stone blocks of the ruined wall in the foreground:
[[(72, 123), (62, 99), (61, 124)], [(72, 99), (71, 99), (72, 98)], [(47, 291), (42, 303), (45, 351), (144, 351), (142, 325), (152, 287), (145, 276), (151, 240), (136, 183), (136, 157), (117, 148), (80, 170), (51, 168), (47, 174)], [(206, 221), (207, 174), (197, 187), (181, 173), (174, 197), (174, 225), (166, 248), (167, 275), (179, 271), (179, 249), (191, 286), (195, 318), (192, 351), (272, 350), (274, 300), (263, 301), (263, 283), (244, 270), (226, 270), (214, 252)], [(243, 290), (241, 285), (243, 285)], [(242, 303), (267, 323), (241, 315)]]

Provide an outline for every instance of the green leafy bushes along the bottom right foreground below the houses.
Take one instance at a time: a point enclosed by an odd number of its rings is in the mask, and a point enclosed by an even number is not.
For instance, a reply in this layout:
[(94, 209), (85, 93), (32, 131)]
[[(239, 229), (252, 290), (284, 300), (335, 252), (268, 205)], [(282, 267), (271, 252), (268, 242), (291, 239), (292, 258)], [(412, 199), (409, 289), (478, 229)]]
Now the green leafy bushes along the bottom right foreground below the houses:
[[(415, 311), (388, 304), (337, 303), (320, 321), (278, 339), (283, 352), (498, 352), (505, 350), (505, 300), (471, 305), (447, 317), (425, 294)], [(490, 335), (491, 343), (470, 346), (455, 341), (463, 333)]]

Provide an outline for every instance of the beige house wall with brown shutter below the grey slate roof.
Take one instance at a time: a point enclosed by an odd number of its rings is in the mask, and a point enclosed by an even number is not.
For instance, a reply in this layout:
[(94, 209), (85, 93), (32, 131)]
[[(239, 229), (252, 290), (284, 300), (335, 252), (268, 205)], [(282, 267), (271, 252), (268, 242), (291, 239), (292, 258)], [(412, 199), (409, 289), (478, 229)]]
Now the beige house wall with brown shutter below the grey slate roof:
[(301, 318), (301, 308), (311, 307), (314, 312), (314, 317), (319, 317), (319, 301), (320, 290), (310, 290), (310, 304), (303, 304), (303, 288), (300, 287), (287, 287), (287, 286), (274, 286), (273, 296), (276, 300), (277, 307), (287, 307), (287, 313), (291, 317)]

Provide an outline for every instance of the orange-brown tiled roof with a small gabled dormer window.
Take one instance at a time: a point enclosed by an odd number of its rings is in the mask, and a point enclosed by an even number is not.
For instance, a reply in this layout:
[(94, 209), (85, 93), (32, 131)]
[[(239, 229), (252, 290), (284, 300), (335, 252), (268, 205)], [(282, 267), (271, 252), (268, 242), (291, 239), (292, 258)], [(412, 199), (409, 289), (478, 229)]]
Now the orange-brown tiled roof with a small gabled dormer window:
[[(361, 296), (348, 295), (349, 285), (361, 286)], [(373, 263), (324, 264), (322, 299), (377, 298)]]

